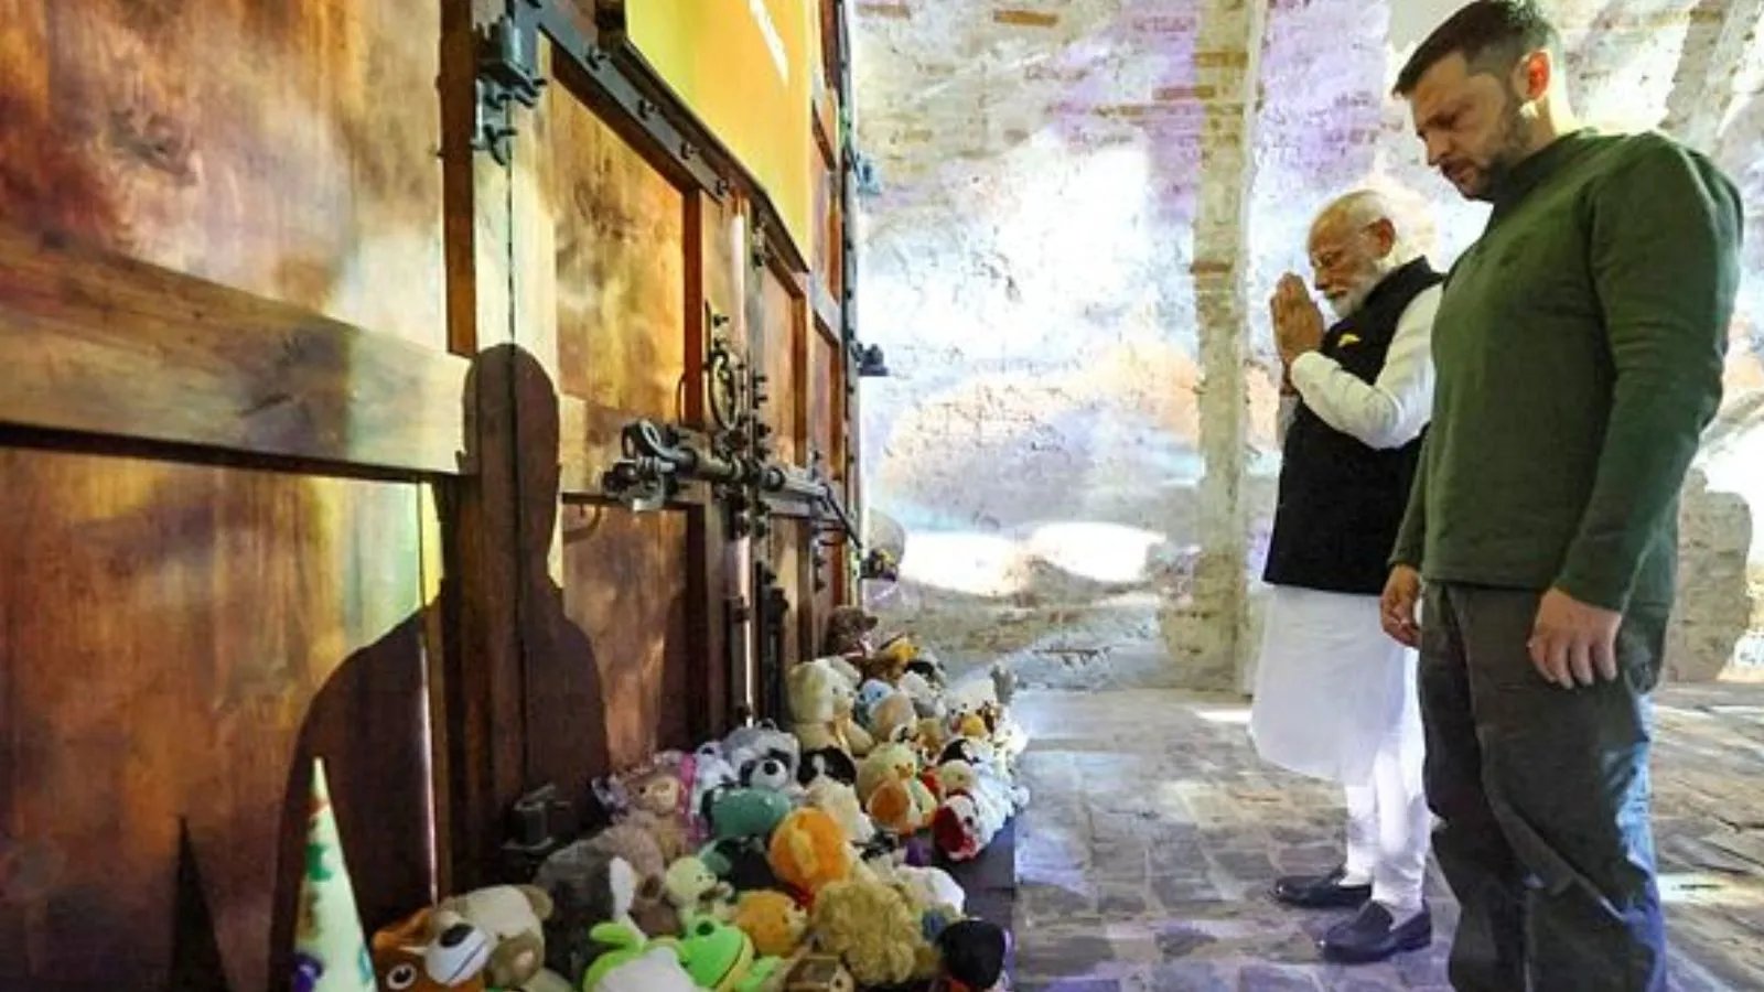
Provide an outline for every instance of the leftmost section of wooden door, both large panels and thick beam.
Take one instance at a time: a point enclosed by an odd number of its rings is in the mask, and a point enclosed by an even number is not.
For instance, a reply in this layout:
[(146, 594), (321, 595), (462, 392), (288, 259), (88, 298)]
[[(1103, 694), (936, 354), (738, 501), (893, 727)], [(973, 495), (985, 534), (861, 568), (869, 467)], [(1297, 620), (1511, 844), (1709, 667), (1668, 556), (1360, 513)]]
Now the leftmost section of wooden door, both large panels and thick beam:
[(443, 881), (441, 37), (0, 4), (0, 987), (286, 974), (312, 757), (365, 916)]

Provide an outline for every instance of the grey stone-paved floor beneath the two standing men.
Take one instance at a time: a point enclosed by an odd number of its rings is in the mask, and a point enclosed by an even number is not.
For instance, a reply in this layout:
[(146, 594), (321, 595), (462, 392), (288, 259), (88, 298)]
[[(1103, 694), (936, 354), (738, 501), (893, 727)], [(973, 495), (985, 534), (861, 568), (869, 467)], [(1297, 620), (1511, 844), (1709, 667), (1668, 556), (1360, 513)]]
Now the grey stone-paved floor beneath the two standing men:
[[(1432, 948), (1378, 966), (1318, 962), (1314, 939), (1344, 914), (1265, 895), (1277, 874), (1335, 863), (1341, 814), (1330, 787), (1256, 759), (1244, 701), (1025, 692), (1014, 711), (1034, 791), (1018, 824), (1018, 988), (1448, 988), (1457, 907), (1438, 870)], [(1764, 687), (1665, 692), (1658, 725), (1674, 988), (1764, 988)]]

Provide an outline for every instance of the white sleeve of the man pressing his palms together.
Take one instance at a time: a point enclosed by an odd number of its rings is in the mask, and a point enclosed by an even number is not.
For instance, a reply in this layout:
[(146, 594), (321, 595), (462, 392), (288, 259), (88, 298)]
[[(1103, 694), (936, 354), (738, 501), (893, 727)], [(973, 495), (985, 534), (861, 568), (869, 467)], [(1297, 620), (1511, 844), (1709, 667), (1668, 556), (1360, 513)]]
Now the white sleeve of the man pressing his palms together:
[(1439, 286), (1409, 302), (1390, 339), (1385, 369), (1367, 385), (1318, 351), (1293, 362), (1293, 388), (1325, 424), (1372, 448), (1401, 448), (1432, 415), (1432, 321)]

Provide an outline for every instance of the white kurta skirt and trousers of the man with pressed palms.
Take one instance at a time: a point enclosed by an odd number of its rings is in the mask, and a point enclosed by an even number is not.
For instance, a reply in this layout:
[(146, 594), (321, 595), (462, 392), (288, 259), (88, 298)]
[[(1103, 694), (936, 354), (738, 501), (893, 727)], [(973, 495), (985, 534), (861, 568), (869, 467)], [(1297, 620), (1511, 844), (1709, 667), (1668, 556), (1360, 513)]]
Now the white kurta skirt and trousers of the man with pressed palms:
[(1249, 718), (1265, 761), (1346, 789), (1348, 874), (1402, 909), (1420, 904), (1431, 828), (1415, 664), (1378, 597), (1277, 586)]

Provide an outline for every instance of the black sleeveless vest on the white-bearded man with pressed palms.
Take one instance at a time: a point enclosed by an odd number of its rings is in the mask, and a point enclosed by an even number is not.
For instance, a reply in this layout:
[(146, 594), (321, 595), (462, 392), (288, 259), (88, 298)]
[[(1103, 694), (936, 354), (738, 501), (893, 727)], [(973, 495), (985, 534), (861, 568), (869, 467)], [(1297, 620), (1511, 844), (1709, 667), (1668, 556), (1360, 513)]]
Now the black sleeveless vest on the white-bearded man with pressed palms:
[[(1427, 259), (1392, 272), (1353, 316), (1323, 335), (1323, 355), (1367, 383), (1378, 381), (1402, 311), (1439, 281)], [(1420, 438), (1401, 448), (1369, 448), (1300, 402), (1281, 452), (1281, 496), (1263, 581), (1381, 593), (1420, 448)]]

